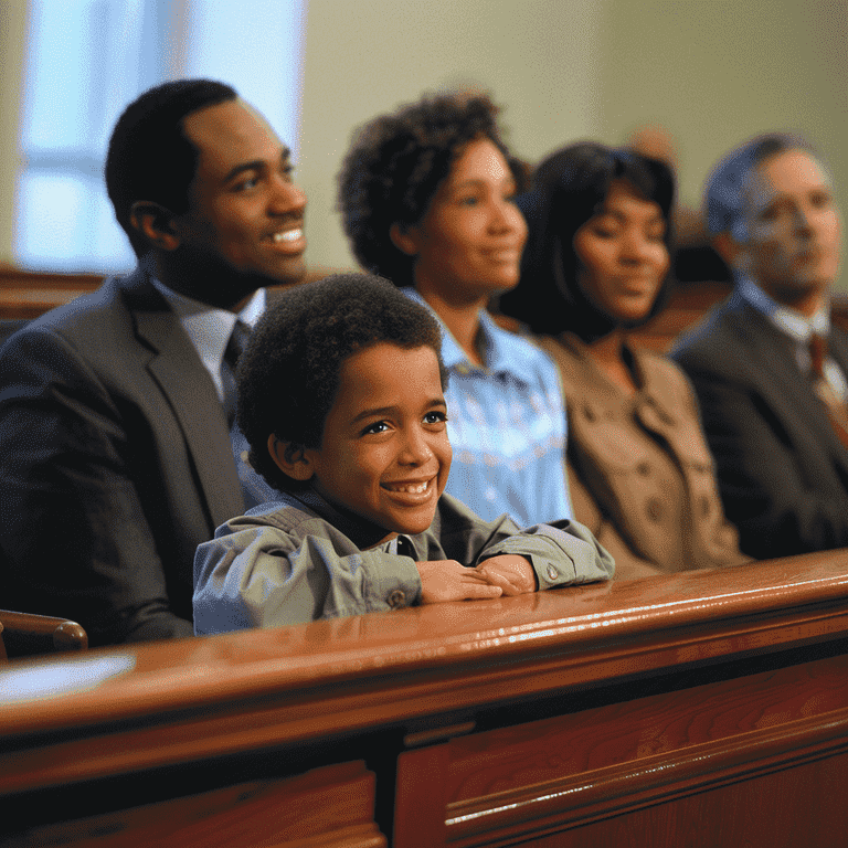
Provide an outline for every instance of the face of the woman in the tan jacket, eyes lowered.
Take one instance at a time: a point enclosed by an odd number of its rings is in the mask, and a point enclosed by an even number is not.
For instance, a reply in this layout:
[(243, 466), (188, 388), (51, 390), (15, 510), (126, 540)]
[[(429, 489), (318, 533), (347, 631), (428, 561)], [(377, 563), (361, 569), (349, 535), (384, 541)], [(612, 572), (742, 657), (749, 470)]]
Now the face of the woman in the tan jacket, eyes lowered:
[(589, 298), (617, 321), (650, 312), (668, 273), (666, 221), (658, 203), (613, 180), (603, 209), (577, 230), (579, 282)]

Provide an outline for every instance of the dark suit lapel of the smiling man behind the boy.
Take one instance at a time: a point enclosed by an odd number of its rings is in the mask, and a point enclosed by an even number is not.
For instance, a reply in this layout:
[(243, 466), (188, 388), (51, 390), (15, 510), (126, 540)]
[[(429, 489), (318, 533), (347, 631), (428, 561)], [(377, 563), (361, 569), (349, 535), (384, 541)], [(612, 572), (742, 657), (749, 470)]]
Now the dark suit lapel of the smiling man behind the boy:
[(142, 272), (123, 283), (136, 336), (150, 349), (147, 369), (160, 386), (197, 469), (213, 527), (244, 511), (224, 411), (212, 379), (165, 298)]

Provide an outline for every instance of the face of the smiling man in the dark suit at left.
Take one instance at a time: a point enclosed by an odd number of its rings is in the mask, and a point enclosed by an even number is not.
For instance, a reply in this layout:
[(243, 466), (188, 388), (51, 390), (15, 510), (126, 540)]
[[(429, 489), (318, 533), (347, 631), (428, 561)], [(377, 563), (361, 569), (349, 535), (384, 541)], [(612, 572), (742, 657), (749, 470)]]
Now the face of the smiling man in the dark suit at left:
[(173, 226), (182, 264), (203, 268), (208, 287), (183, 293), (229, 306), (261, 285), (300, 282), (306, 195), (292, 180), (288, 149), (241, 99), (188, 115), (183, 131), (198, 149), (198, 167), (189, 210)]

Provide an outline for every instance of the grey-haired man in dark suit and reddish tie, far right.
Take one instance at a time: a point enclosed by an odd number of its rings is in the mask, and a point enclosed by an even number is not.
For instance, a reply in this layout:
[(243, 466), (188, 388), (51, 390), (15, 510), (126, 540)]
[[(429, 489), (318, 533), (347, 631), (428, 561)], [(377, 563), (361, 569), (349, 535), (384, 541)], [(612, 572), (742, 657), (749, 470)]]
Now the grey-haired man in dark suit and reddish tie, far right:
[(728, 518), (756, 558), (848, 545), (848, 336), (830, 325), (841, 253), (830, 179), (803, 139), (762, 136), (718, 166), (706, 205), (735, 286), (672, 356), (695, 384)]

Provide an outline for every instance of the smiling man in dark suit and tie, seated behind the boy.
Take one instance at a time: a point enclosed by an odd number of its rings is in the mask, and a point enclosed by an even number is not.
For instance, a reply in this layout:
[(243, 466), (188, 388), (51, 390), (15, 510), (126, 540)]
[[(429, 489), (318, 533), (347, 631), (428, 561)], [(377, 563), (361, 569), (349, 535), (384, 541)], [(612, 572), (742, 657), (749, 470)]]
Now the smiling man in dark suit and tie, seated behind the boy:
[(106, 183), (138, 267), (0, 352), (0, 605), (75, 618), (92, 645), (192, 635), (194, 550), (244, 511), (230, 336), (305, 274), (290, 171), (221, 83), (121, 115)]

